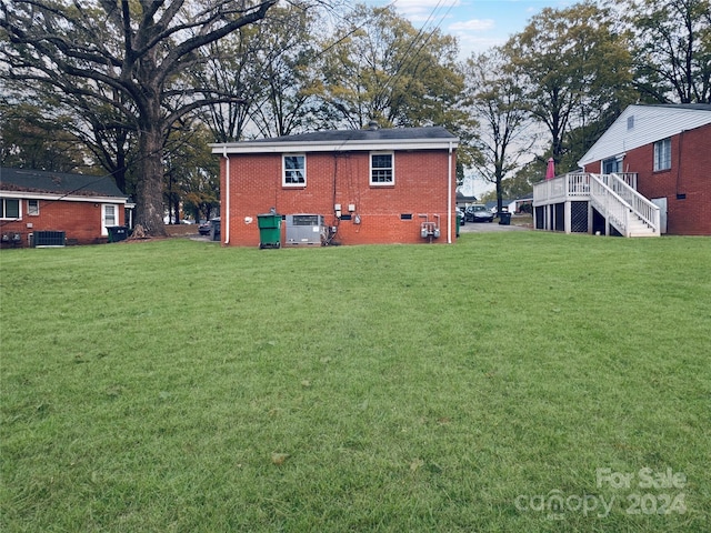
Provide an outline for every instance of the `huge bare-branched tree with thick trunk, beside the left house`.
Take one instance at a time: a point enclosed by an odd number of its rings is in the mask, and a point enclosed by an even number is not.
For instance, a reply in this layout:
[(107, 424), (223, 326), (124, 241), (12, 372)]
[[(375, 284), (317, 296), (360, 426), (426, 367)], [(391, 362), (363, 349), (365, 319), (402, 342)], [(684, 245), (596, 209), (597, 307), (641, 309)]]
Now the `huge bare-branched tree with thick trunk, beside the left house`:
[(118, 111), (139, 145), (137, 223), (163, 234), (163, 145), (182, 117), (233, 100), (184, 83), (198, 53), (278, 0), (0, 0), (0, 60), (16, 80)]

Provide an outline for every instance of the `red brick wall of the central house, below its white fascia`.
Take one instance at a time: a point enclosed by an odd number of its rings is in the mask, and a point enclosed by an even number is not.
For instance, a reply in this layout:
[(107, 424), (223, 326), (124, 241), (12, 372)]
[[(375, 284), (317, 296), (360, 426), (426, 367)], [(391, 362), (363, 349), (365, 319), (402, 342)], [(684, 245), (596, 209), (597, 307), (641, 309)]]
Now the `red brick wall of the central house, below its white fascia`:
[[(227, 238), (228, 205), (224, 182), (226, 160), (222, 159), (222, 240)], [(447, 242), (448, 164), (447, 150), (395, 151), (394, 184), (371, 187), (369, 183), (369, 152), (307, 153), (307, 187), (284, 188), (281, 184), (281, 154), (240, 154), (230, 158), (230, 218), (229, 239), (232, 245), (259, 245), (257, 215), (276, 208), (279, 214), (313, 213), (326, 215), (326, 223), (338, 225), (337, 241), (341, 244), (421, 243), (420, 224), (428, 214), (430, 220), (440, 215), (441, 237), (434, 242)], [(454, 157), (452, 157), (452, 182)], [(452, 198), (451, 237), (454, 241), (457, 214), (454, 185)], [(340, 203), (342, 214), (360, 217), (341, 220), (333, 205)], [(349, 204), (356, 211), (349, 213)], [(403, 213), (412, 220), (401, 220)], [(251, 223), (244, 219), (250, 217)], [(286, 228), (282, 224), (282, 243)]]

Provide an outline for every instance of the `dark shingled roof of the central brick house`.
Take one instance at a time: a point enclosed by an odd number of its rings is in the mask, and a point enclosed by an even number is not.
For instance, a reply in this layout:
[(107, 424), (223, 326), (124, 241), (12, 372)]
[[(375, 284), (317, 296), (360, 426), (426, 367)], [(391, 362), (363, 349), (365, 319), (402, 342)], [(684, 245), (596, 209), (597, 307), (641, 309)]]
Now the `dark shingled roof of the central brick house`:
[(402, 141), (425, 139), (457, 139), (447, 129), (432, 125), (425, 128), (391, 128), (368, 130), (330, 130), (300, 133), (296, 135), (272, 137), (270, 139), (257, 139), (246, 141), (260, 142), (344, 142), (344, 141)]

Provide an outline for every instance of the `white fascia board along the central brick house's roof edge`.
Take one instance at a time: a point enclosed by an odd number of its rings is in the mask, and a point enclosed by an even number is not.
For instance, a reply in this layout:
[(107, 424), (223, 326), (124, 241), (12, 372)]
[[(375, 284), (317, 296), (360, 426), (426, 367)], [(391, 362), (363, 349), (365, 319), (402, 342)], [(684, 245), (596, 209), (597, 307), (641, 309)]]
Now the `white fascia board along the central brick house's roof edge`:
[(306, 152), (351, 152), (382, 150), (449, 150), (457, 148), (459, 139), (437, 140), (383, 140), (383, 141), (340, 141), (340, 142), (254, 142), (249, 141), (210, 144), (212, 153), (306, 153)]

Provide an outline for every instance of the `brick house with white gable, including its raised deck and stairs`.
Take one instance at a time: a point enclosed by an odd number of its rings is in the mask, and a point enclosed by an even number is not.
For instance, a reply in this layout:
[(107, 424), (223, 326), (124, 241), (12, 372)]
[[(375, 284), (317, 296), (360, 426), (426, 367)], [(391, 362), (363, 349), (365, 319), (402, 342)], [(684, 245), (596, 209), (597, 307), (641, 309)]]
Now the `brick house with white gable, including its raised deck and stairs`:
[(579, 161), (537, 183), (537, 229), (711, 235), (711, 104), (630, 105)]

